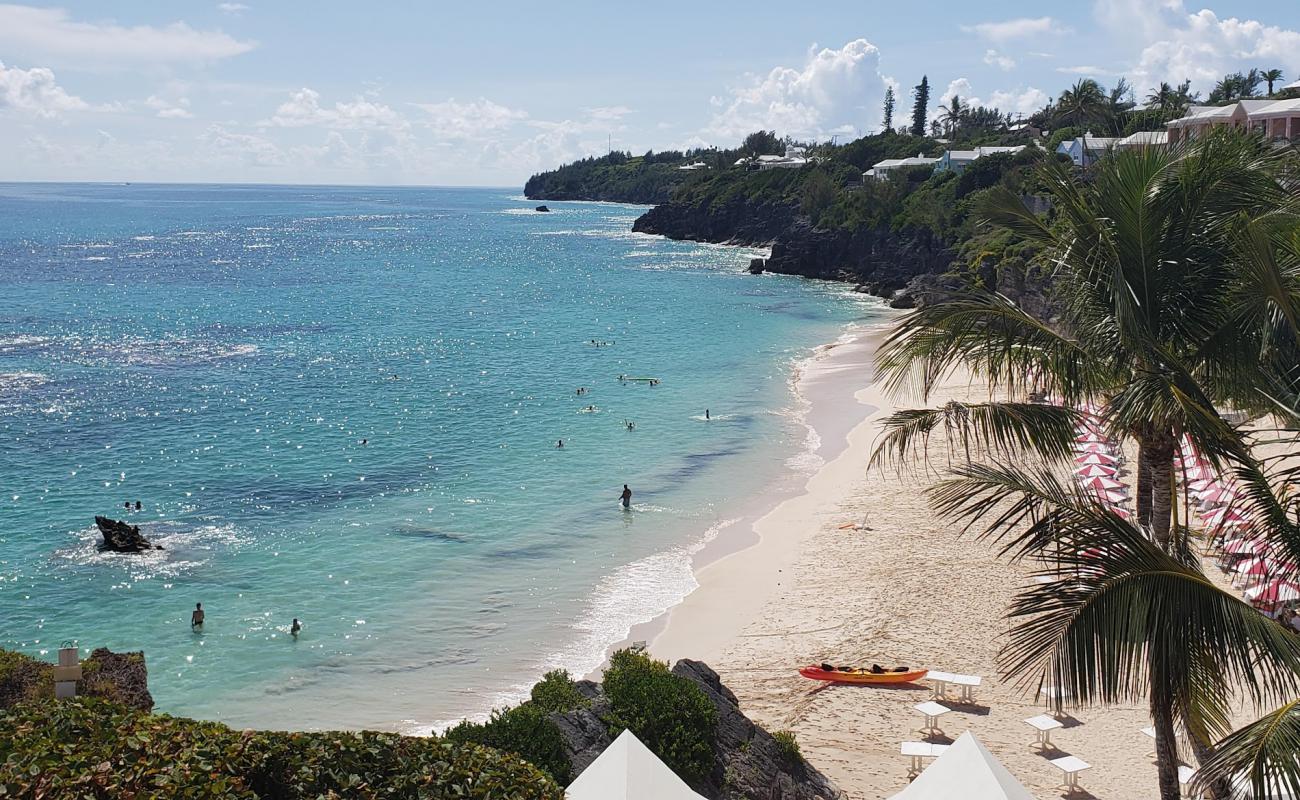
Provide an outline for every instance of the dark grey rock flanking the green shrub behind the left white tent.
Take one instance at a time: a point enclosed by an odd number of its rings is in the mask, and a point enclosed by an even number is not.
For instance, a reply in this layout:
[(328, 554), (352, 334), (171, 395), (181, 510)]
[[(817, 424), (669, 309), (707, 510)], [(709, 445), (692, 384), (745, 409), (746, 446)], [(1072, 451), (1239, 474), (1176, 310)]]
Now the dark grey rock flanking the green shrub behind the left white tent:
[[(707, 665), (682, 660), (672, 671), (698, 684), (718, 709), (714, 766), (708, 777), (693, 787), (697, 792), (716, 800), (841, 797), (826, 775), (803, 760), (789, 756), (771, 734), (750, 722), (740, 710), (736, 696)], [(610, 708), (601, 686), (582, 680), (577, 688), (590, 705), (551, 717), (564, 736), (575, 777), (614, 741), (602, 718)]]

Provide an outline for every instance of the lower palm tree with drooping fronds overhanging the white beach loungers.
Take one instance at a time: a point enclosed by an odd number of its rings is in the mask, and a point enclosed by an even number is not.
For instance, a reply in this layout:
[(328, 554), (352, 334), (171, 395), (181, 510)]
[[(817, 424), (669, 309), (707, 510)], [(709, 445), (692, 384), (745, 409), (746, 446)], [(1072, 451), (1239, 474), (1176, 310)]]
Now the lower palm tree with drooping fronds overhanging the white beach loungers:
[[(1030, 688), (1060, 686), (1080, 705), (1145, 701), (1162, 800), (1180, 796), (1179, 725), (1193, 741), (1214, 741), (1228, 730), (1234, 687), (1257, 708), (1300, 689), (1300, 636), (1219, 589), (1191, 550), (1166, 550), (1050, 470), (967, 464), (956, 473), (932, 490), (941, 514), (1000, 541), (1004, 555), (1049, 566), (1044, 583), (1011, 605), (1017, 623), (1002, 670)], [(1294, 533), (1270, 542), (1300, 558)], [(1300, 727), (1294, 708), (1277, 712), (1292, 735)], [(1294, 739), (1258, 723), (1209, 758), (1202, 780), (1217, 784), (1261, 740), (1275, 756), (1265, 765), (1300, 782), (1300, 765), (1286, 762), (1295, 762)]]

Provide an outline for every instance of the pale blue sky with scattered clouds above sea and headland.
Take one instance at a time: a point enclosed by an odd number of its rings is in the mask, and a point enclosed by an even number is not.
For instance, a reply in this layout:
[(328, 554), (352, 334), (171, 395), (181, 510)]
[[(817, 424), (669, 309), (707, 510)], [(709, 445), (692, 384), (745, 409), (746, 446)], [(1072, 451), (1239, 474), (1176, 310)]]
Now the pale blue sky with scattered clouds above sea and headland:
[(1300, 78), (1296, 0), (0, 4), (0, 181), (519, 186), (607, 147)]

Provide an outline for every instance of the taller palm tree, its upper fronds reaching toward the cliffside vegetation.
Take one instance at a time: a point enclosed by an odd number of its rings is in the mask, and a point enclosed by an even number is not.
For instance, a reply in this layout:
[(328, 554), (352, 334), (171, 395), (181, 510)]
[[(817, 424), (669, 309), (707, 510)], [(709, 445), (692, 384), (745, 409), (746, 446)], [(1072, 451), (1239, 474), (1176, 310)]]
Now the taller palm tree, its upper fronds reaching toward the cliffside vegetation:
[[(875, 460), (919, 449), (940, 425), (1060, 458), (1067, 408), (1098, 403), (1109, 431), (1138, 442), (1138, 518), (1170, 546), (1176, 437), (1190, 434), (1216, 460), (1240, 458), (1216, 403), (1261, 414), (1300, 407), (1296, 340), (1284, 334), (1300, 320), (1300, 242), (1284, 233), (1294, 225), (1275, 224), (1288, 203), (1280, 157), (1223, 134), (1122, 151), (1089, 182), (1048, 163), (1040, 182), (1056, 209), (1050, 224), (1009, 190), (992, 190), (984, 217), (1041, 248), (1060, 320), (984, 290), (904, 317), (878, 356), (890, 386), (915, 382), (928, 397), (963, 364), (1010, 399), (896, 414)], [(1066, 407), (1014, 402), (1030, 389)]]

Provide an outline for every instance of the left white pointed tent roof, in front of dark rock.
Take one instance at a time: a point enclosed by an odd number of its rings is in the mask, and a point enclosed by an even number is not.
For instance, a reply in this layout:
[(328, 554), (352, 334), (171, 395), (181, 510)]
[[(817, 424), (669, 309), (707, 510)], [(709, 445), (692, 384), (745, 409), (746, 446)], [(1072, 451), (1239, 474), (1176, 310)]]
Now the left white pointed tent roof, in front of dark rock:
[(623, 731), (564, 791), (567, 800), (705, 800), (650, 748)]

